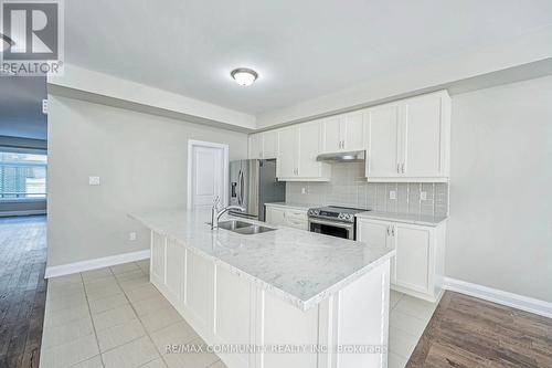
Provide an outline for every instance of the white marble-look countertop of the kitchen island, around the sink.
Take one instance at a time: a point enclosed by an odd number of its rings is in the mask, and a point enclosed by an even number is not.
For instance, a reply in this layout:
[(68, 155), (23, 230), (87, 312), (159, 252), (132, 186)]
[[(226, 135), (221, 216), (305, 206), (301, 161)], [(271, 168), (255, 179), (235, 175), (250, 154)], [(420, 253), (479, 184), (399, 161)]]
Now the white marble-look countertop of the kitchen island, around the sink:
[(289, 228), (253, 235), (211, 230), (210, 211), (150, 210), (130, 217), (302, 311), (394, 255), (386, 248)]

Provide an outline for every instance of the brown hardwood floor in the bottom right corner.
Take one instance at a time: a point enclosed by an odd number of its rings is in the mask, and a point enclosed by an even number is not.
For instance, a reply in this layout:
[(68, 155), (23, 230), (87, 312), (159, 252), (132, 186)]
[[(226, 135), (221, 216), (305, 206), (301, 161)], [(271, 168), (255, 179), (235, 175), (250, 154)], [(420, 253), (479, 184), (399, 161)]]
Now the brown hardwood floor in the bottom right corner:
[(552, 319), (446, 292), (406, 367), (552, 367)]

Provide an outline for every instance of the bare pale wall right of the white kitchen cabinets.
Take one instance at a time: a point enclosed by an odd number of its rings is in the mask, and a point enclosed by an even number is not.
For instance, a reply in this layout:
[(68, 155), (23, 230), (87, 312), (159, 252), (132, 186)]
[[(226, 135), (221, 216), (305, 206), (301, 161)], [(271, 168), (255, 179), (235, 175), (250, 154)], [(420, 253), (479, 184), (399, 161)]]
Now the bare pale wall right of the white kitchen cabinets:
[(446, 274), (552, 302), (552, 77), (453, 98)]

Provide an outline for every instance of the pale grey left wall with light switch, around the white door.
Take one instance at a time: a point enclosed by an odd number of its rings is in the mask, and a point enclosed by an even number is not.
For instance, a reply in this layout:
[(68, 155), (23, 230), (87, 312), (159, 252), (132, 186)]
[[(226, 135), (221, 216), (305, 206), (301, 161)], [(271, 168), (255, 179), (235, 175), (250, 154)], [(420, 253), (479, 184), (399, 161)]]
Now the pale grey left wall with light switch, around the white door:
[(49, 98), (47, 266), (147, 249), (149, 234), (127, 213), (185, 206), (188, 139), (229, 144), (231, 160), (247, 156), (242, 133)]

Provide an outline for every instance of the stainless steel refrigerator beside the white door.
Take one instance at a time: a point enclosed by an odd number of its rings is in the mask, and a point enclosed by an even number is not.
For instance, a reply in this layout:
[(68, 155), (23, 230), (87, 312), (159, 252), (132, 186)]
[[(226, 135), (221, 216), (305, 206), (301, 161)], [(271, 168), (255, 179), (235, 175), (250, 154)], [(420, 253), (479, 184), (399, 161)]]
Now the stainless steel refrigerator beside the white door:
[(230, 162), (230, 204), (246, 209), (232, 214), (265, 221), (265, 203), (285, 200), (286, 182), (276, 179), (276, 160)]

